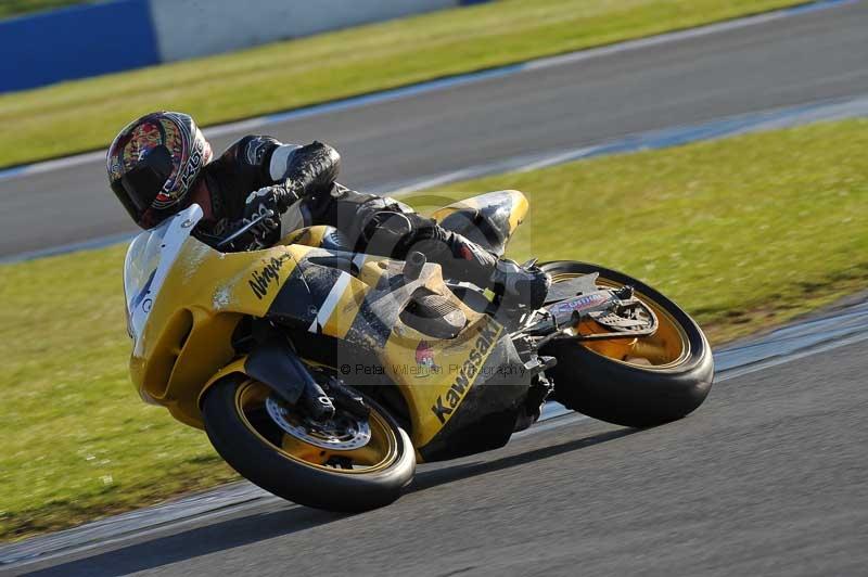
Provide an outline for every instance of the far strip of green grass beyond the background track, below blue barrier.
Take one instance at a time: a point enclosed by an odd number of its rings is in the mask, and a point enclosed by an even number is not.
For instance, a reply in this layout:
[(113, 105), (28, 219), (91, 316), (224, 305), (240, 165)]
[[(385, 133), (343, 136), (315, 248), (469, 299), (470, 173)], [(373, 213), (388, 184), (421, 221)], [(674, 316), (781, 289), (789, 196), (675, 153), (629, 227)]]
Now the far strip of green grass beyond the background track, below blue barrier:
[(501, 0), (0, 95), (0, 166), (104, 146), (157, 108), (209, 125), (796, 3)]

